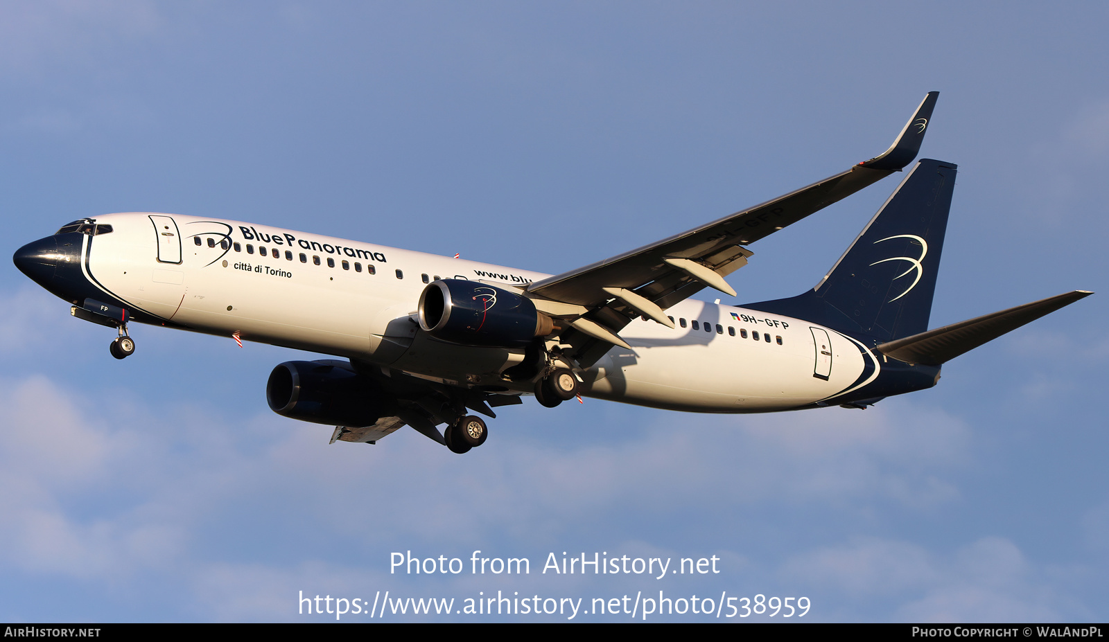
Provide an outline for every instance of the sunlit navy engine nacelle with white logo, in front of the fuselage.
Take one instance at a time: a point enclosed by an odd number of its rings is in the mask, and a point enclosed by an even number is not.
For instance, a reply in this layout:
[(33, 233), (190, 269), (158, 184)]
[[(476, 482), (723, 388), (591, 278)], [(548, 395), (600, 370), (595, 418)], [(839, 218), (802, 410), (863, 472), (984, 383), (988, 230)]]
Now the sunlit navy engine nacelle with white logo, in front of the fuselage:
[(523, 348), (554, 330), (551, 317), (516, 293), (460, 278), (435, 281), (419, 297), (419, 325), (466, 346)]

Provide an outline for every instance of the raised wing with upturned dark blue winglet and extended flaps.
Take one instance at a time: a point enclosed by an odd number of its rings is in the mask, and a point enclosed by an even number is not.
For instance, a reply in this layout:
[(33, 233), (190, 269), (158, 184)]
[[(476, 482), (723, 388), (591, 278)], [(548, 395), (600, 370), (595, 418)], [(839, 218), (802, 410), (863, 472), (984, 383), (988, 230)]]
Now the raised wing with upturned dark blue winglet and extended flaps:
[[(752, 252), (744, 245), (796, 223), (912, 162), (920, 149), (939, 92), (929, 92), (894, 144), (869, 161), (658, 243), (537, 281), (527, 287), (527, 293), (539, 309), (606, 344), (629, 347), (615, 333), (637, 316), (673, 327), (663, 312), (705, 286), (735, 296), (723, 277), (746, 265)], [(572, 338), (572, 333), (563, 335), (563, 340)], [(582, 356), (579, 354), (579, 358)]]

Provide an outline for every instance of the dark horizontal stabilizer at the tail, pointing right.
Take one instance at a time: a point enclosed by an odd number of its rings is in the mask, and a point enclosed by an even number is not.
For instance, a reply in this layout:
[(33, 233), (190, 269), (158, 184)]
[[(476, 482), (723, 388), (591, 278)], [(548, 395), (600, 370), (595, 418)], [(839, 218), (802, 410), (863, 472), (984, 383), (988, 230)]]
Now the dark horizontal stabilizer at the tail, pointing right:
[(1068, 292), (888, 342), (874, 349), (907, 364), (938, 366), (1091, 294), (1081, 289)]

